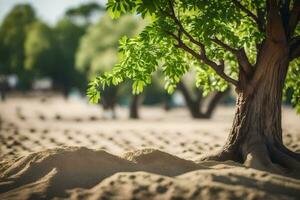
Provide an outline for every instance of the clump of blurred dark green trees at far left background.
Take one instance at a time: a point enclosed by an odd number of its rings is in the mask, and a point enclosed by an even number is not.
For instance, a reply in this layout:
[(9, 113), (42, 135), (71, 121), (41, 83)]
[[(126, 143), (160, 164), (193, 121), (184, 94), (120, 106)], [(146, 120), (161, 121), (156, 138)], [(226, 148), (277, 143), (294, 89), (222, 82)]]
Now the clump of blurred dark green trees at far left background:
[(85, 30), (85, 25), (66, 16), (49, 27), (35, 17), (30, 5), (16, 5), (0, 27), (0, 73), (16, 74), (23, 89), (45, 76), (59, 88), (84, 89), (86, 79), (76, 71), (74, 61)]

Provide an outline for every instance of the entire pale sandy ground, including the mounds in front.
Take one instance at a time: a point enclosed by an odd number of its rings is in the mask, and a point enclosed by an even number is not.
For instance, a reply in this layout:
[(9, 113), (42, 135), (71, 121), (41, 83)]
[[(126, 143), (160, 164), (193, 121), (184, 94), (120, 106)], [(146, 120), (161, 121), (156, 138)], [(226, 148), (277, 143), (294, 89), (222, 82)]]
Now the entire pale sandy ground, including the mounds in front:
[[(300, 180), (233, 162), (198, 162), (225, 141), (234, 109), (192, 120), (185, 109), (102, 118), (59, 97), (0, 103), (0, 199), (300, 199)], [(284, 142), (300, 152), (300, 117), (283, 108)]]

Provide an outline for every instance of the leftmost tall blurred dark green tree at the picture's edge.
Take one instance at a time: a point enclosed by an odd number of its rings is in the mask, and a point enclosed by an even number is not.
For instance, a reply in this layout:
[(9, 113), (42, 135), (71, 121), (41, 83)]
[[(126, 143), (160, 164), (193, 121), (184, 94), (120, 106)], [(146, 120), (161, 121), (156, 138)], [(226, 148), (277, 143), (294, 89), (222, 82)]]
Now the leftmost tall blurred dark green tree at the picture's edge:
[(19, 4), (5, 16), (0, 27), (0, 73), (17, 74), (23, 88), (28, 88), (31, 80), (24, 67), (24, 42), (27, 29), (35, 20), (33, 8)]

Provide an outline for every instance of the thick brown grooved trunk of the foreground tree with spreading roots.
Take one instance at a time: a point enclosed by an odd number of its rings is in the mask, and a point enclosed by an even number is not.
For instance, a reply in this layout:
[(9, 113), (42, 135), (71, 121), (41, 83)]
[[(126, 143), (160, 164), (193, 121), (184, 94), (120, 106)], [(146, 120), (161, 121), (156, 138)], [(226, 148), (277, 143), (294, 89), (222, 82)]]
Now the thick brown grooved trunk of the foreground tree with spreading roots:
[(226, 144), (204, 160), (233, 160), (256, 169), (282, 173), (300, 169), (300, 156), (283, 145), (282, 90), (288, 68), (288, 48), (267, 41), (249, 87), (238, 91), (236, 113)]

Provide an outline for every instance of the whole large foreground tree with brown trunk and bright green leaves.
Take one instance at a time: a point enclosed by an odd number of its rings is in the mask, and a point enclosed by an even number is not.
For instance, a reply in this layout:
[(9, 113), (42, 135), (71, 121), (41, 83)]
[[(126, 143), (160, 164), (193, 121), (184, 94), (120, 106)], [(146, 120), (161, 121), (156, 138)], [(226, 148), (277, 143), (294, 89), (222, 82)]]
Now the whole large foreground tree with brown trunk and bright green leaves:
[(198, 86), (224, 90), (231, 84), (237, 93), (225, 145), (203, 159), (299, 172), (300, 155), (284, 146), (281, 128), (284, 86), (294, 88), (300, 106), (299, 0), (110, 0), (107, 5), (114, 17), (138, 13), (151, 16), (152, 23), (138, 37), (121, 40), (123, 59), (90, 83), (91, 101), (100, 97), (98, 87), (126, 78), (134, 80), (134, 93), (141, 92), (158, 65), (172, 91), (192, 62)]

